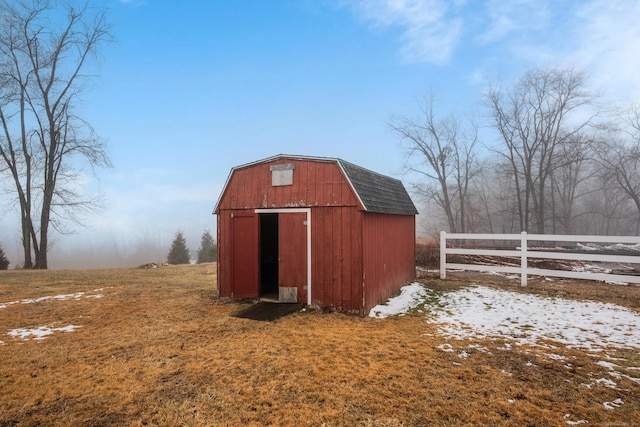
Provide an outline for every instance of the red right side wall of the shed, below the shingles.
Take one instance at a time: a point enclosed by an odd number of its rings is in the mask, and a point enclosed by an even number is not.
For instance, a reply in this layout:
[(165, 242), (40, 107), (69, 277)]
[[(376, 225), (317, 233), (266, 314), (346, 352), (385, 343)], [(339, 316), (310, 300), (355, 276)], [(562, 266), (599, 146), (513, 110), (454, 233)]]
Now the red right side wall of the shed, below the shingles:
[(415, 279), (415, 216), (367, 213), (362, 234), (368, 311)]

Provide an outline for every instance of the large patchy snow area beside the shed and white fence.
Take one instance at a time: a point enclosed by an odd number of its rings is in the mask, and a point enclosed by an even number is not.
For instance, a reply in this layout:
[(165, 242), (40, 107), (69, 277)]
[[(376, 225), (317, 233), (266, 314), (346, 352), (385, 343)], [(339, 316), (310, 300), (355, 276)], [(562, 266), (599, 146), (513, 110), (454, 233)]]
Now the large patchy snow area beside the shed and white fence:
[(507, 337), (516, 344), (550, 339), (569, 347), (640, 349), (640, 314), (627, 308), (593, 301), (524, 294), (486, 286), (472, 286), (436, 294), (419, 283), (402, 288), (398, 297), (378, 305), (370, 317), (401, 315), (437, 298), (429, 321), (449, 338)]

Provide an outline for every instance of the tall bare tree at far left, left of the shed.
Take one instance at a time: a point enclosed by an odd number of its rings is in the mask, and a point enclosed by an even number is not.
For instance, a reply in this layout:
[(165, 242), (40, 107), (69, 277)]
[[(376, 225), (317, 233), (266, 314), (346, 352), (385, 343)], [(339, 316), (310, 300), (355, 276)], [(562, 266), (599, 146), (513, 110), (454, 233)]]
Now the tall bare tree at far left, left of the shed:
[(74, 189), (78, 159), (110, 165), (76, 113), (82, 70), (109, 25), (104, 10), (48, 0), (0, 1), (0, 19), (0, 158), (20, 207), (24, 267), (47, 268), (50, 226), (96, 206)]

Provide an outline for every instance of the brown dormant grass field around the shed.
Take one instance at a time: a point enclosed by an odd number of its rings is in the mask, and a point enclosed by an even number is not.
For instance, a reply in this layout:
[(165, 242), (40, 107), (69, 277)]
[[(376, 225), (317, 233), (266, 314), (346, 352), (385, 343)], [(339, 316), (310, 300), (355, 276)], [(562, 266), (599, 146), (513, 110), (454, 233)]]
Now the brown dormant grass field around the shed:
[[(424, 281), (440, 292), (469, 283)], [(640, 287), (603, 286), (527, 292), (639, 309)], [(450, 342), (426, 321), (428, 305), (388, 319), (231, 316), (247, 306), (217, 300), (215, 264), (2, 271), (0, 426), (640, 425), (632, 375), (599, 381), (610, 378), (599, 361), (640, 366), (634, 351), (557, 346), (563, 359)]]

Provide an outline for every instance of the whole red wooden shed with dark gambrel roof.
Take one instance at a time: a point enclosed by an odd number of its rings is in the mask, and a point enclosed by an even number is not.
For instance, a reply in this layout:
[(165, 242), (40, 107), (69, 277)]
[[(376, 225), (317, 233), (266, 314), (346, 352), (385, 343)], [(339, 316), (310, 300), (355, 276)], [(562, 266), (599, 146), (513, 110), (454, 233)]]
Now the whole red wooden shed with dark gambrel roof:
[(418, 212), (404, 186), (341, 159), (237, 166), (214, 213), (221, 297), (366, 314), (415, 278)]

